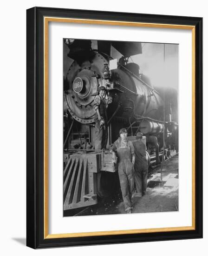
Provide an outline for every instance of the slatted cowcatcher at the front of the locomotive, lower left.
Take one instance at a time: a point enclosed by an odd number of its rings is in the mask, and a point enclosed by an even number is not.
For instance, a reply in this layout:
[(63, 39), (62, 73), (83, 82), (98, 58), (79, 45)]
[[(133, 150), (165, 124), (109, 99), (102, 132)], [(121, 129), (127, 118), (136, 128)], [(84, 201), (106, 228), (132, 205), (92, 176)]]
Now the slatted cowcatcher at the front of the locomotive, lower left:
[(99, 155), (72, 154), (64, 169), (64, 210), (97, 204)]

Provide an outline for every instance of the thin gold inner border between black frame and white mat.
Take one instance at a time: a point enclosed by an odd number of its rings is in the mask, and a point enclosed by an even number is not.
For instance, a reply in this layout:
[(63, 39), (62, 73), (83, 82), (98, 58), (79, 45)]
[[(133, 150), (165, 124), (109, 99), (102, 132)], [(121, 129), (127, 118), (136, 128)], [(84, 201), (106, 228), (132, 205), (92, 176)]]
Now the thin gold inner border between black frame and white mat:
[[(192, 30), (192, 226), (154, 228), (154, 229), (128, 229), (113, 231), (98, 231), (84, 233), (48, 234), (48, 24), (49, 22), (71, 22), (96, 25), (117, 25), (133, 27), (155, 27), (171, 29)], [(84, 237), (84, 236), (108, 236), (124, 234), (141, 234), (168, 231), (195, 230), (195, 26), (142, 23), (117, 20), (91, 20), (44, 17), (44, 239)]]

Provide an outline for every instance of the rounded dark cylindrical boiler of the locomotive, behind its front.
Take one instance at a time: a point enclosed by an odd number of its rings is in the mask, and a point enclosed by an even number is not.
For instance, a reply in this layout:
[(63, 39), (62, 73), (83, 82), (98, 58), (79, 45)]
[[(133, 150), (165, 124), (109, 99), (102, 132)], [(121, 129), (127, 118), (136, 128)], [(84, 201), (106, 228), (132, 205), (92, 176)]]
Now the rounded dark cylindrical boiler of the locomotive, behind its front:
[[(119, 65), (111, 71), (114, 88), (123, 91), (118, 94), (111, 105), (111, 111), (122, 103), (117, 112), (123, 119), (146, 116), (160, 120), (163, 112), (163, 100), (160, 94), (151, 86), (147, 76), (139, 73), (136, 63)], [(133, 121), (133, 119), (131, 119)]]

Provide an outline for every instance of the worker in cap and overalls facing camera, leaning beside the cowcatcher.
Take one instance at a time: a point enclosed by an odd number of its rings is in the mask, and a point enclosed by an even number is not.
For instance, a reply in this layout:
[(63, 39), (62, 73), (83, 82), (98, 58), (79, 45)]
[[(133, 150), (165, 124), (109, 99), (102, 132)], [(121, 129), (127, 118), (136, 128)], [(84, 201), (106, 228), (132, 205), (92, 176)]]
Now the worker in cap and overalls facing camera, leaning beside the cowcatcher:
[(134, 146), (127, 140), (125, 128), (119, 131), (120, 138), (114, 142), (111, 152), (112, 161), (118, 162), (118, 176), (123, 196), (123, 202), (127, 213), (131, 213), (132, 197), (134, 193)]

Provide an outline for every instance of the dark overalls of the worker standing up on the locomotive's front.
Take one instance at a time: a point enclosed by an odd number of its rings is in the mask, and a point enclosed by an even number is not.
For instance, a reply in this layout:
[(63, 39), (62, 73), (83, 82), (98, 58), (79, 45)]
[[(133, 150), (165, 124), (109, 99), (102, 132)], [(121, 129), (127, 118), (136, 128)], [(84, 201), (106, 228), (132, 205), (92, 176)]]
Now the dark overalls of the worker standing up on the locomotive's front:
[(106, 148), (108, 141), (108, 120), (105, 99), (99, 95), (95, 98), (94, 108), (99, 108), (100, 116), (104, 119), (104, 126), (100, 127), (100, 121), (95, 114), (95, 149)]

